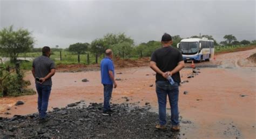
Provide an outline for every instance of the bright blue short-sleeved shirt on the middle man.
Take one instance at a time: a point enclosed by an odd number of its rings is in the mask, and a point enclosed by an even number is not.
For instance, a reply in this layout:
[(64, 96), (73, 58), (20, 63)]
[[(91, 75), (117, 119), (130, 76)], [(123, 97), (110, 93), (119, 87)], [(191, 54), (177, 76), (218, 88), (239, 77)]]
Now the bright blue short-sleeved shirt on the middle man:
[(105, 57), (100, 61), (100, 74), (102, 77), (102, 84), (113, 85), (113, 81), (110, 78), (109, 71), (113, 72), (114, 75), (114, 64), (109, 57)]

